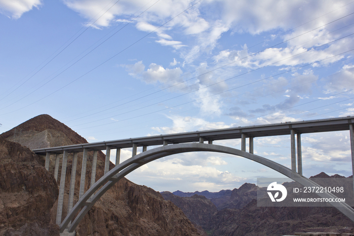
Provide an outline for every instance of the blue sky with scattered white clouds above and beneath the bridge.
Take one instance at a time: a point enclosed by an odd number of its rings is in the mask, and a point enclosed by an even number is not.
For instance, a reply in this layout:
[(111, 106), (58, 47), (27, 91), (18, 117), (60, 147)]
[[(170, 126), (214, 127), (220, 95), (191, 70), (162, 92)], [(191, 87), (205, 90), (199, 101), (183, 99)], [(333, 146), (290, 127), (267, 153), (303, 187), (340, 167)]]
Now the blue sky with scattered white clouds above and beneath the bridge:
[[(354, 115), (352, 1), (0, 0), (0, 13), (0, 132), (44, 113), (89, 142)], [(254, 150), (290, 167), (290, 137)], [(302, 152), (306, 177), (352, 173), (348, 132), (302, 135)], [(219, 191), (282, 176), (186, 153), (127, 177)]]

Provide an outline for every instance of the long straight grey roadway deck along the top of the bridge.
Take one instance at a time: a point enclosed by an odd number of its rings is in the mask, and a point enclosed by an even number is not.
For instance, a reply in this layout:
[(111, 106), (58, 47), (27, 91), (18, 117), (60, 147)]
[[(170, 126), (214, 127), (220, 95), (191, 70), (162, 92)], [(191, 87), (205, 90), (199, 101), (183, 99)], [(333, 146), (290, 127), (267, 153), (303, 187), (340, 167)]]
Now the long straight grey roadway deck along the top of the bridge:
[(343, 131), (349, 130), (349, 124), (351, 123), (354, 123), (354, 117), (347, 116), (325, 120), (287, 122), (271, 125), (247, 126), (229, 129), (205, 130), (188, 133), (129, 138), (62, 147), (41, 148), (32, 151), (37, 154), (46, 154), (47, 152), (63, 153), (64, 150), (68, 150), (69, 152), (82, 151), (83, 148), (92, 150), (104, 150), (107, 146), (110, 146), (111, 148), (128, 148), (131, 147), (133, 143), (137, 144), (137, 146), (154, 146), (162, 145), (163, 141), (167, 141), (168, 144), (199, 142), (200, 137), (204, 138), (206, 141), (239, 139), (241, 138), (241, 134), (245, 134), (248, 137), (278, 136), (290, 135), (290, 130), (295, 130), (300, 134)]

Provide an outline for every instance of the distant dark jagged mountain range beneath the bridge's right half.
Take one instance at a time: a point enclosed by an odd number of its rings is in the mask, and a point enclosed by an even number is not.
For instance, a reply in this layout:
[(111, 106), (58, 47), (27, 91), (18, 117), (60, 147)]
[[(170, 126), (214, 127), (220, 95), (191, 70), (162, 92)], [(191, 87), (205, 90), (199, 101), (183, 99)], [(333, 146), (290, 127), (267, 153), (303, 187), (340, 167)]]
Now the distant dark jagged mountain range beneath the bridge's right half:
[[(313, 177), (345, 178), (323, 172)], [(255, 184), (245, 183), (233, 190), (164, 191), (161, 195), (181, 208), (196, 227), (211, 236), (354, 232), (354, 223), (333, 207), (257, 207), (257, 189)]]

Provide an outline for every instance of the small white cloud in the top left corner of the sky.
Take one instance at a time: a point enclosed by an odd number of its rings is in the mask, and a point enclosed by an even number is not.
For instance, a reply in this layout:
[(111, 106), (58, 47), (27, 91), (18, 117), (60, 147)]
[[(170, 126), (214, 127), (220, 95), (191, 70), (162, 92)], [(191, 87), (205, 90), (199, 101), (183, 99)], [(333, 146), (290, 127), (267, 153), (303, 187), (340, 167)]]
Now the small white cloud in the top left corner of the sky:
[(40, 5), (42, 5), (41, 0), (0, 0), (0, 13), (8, 17), (11, 16), (13, 19), (19, 19), (23, 13), (32, 10), (33, 7), (39, 8)]

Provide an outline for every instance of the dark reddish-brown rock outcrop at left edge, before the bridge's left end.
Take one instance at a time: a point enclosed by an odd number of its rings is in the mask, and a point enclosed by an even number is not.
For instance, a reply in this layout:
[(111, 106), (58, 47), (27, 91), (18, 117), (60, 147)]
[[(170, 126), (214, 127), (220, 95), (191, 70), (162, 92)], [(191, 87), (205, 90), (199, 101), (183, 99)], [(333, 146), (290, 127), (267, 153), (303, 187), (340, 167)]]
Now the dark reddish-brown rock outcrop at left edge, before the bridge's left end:
[(50, 211), (58, 197), (44, 159), (0, 138), (0, 235), (58, 235)]

